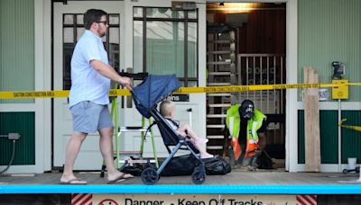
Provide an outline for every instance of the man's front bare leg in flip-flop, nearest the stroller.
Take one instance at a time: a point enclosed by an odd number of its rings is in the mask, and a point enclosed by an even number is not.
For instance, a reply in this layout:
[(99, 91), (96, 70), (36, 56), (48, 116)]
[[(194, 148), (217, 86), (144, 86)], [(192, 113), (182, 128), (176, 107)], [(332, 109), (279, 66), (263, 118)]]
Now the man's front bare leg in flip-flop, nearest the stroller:
[(113, 157), (113, 127), (99, 130), (100, 134), (100, 152), (106, 162), (107, 180), (114, 181), (123, 175), (124, 178), (133, 177), (132, 174), (123, 174), (116, 170)]

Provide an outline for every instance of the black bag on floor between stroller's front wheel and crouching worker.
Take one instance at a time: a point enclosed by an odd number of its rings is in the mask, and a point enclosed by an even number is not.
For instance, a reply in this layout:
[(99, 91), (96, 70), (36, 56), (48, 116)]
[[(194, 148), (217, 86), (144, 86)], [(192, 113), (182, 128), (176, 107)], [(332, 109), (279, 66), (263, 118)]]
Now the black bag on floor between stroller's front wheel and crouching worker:
[(206, 165), (206, 174), (208, 175), (228, 174), (231, 172), (231, 165), (220, 156), (203, 159), (203, 161)]

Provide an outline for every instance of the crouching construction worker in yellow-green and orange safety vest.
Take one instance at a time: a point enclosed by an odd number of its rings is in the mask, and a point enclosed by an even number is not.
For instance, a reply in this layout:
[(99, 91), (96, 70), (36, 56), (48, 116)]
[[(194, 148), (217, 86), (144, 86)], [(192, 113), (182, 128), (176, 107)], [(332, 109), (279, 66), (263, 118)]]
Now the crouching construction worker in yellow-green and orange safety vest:
[[(255, 109), (255, 104), (245, 100), (227, 110), (226, 136), (231, 136), (235, 160), (242, 162), (249, 170), (257, 167), (257, 156), (266, 145), (266, 116)], [(241, 157), (240, 157), (241, 156)]]

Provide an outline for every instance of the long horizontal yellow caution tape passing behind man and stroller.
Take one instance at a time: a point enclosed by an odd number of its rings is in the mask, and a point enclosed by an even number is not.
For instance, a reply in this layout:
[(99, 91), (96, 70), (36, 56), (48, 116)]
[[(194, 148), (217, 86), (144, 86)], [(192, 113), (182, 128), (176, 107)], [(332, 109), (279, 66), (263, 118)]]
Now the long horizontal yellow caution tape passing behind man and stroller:
[[(292, 88), (319, 88), (319, 87), (339, 87), (339, 86), (361, 86), (361, 83), (346, 84), (279, 84), (279, 85), (229, 85), (229, 86), (205, 86), (205, 87), (180, 87), (173, 94), (210, 94), (210, 93), (236, 93), (246, 91), (261, 90), (281, 90)], [(109, 96), (130, 95), (127, 89), (111, 89)], [(0, 92), (0, 99), (32, 99), (32, 98), (59, 98), (68, 97), (68, 90), (57, 91), (16, 91)]]

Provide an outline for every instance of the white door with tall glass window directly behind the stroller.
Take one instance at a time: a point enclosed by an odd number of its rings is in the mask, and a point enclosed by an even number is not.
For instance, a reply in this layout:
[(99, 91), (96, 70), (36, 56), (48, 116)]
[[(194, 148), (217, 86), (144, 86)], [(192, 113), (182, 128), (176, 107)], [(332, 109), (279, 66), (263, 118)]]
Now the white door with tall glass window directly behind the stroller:
[[(198, 53), (198, 62), (191, 61), (189, 54), (189, 61), (197, 64), (199, 67), (199, 86), (204, 86), (206, 82), (206, 72), (205, 72), (205, 62), (204, 54), (206, 53), (206, 20), (205, 20), (205, 4), (197, 4), (199, 8), (198, 13), (198, 22), (194, 20), (197, 18), (196, 13), (191, 13), (190, 18), (193, 22), (189, 22), (188, 40), (191, 43), (198, 42), (197, 49), (189, 48), (189, 52), (196, 56)], [(174, 45), (177, 43), (182, 43), (180, 41), (171, 41), (177, 40), (184, 35), (185, 24), (182, 22), (184, 20), (185, 12), (171, 11), (171, 1), (169, 0), (139, 0), (139, 1), (127, 1), (125, 2), (125, 49), (132, 48), (133, 52), (125, 52), (125, 67), (133, 67), (134, 73), (143, 72), (143, 68), (146, 67), (146, 71), (150, 74), (173, 74), (172, 72), (177, 72), (172, 66), (177, 66), (176, 64), (172, 65), (167, 59), (167, 56), (162, 56), (162, 50), (164, 53), (167, 51), (174, 52), (174, 50), (180, 49)], [(145, 14), (147, 19), (144, 19), (143, 15)], [(177, 20), (169, 20), (171, 18), (176, 18)], [(169, 19), (168, 19), (169, 18)], [(146, 21), (144, 23), (144, 21)], [(173, 22), (171, 22), (173, 21)], [(177, 26), (174, 26), (177, 25)], [(199, 31), (199, 38), (197, 39), (197, 31)], [(145, 34), (146, 32), (146, 34)], [(178, 36), (179, 35), (179, 36)], [(144, 40), (144, 36), (146, 40)], [(198, 41), (197, 41), (198, 40)], [(145, 45), (144, 45), (144, 41)], [(168, 43), (167, 43), (168, 42)], [(197, 43), (195, 43), (197, 44)], [(165, 46), (164, 46), (165, 45)], [(183, 45), (183, 44), (182, 44)], [(146, 48), (146, 49), (145, 49)], [(148, 51), (145, 51), (148, 50)], [(143, 53), (146, 52), (147, 65), (144, 65)], [(182, 52), (180, 52), (178, 60), (182, 60)], [(192, 58), (196, 58), (196, 57)], [(174, 59), (174, 57), (171, 57)], [(157, 61), (154, 63), (154, 61)], [(153, 61), (153, 63), (151, 62)], [(165, 72), (157, 70), (157, 68), (162, 67), (163, 65), (171, 65), (166, 67)], [(154, 68), (156, 67), (156, 68)], [(153, 69), (154, 68), (154, 69)], [(164, 67), (162, 67), (164, 68)], [(180, 67), (180, 69), (183, 69)], [(154, 71), (155, 70), (155, 71)], [(177, 73), (177, 76), (181, 74)], [(136, 85), (138, 82), (134, 82)], [(192, 86), (192, 85), (190, 85)], [(125, 99), (129, 100), (129, 99)], [(125, 105), (130, 105), (131, 102), (126, 101)], [(205, 94), (190, 94), (188, 102), (179, 102), (177, 104), (177, 119), (182, 123), (190, 123), (188, 109), (192, 109), (192, 118), (191, 122), (193, 128), (199, 134), (199, 137), (206, 138), (206, 96)], [(134, 109), (134, 106), (121, 106), (120, 107), (120, 117), (119, 123), (121, 126), (140, 126), (141, 115), (138, 111)], [(132, 116), (131, 118), (129, 116)], [(163, 145), (162, 137), (159, 133), (159, 130), (156, 126), (153, 127), (154, 130), (154, 140), (157, 154), (159, 157), (168, 156), (168, 152)], [(139, 150), (141, 145), (141, 135), (140, 133), (125, 133), (122, 134), (120, 138), (120, 149), (121, 150)], [(143, 156), (152, 157), (153, 156), (153, 147), (151, 138), (147, 138), (144, 143), (144, 153)]]

